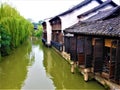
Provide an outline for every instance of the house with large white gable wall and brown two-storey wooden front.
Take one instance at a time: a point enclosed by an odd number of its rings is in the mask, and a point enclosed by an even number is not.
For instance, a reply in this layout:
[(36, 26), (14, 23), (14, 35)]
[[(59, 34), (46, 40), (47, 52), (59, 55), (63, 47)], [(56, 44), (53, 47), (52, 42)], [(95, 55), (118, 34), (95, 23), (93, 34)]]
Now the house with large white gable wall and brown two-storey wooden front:
[[(71, 9), (53, 17), (49, 22), (52, 27), (52, 45), (62, 51), (64, 43), (63, 30), (78, 22), (77, 16), (103, 2), (101, 0), (84, 0)], [(88, 8), (89, 7), (89, 8)]]

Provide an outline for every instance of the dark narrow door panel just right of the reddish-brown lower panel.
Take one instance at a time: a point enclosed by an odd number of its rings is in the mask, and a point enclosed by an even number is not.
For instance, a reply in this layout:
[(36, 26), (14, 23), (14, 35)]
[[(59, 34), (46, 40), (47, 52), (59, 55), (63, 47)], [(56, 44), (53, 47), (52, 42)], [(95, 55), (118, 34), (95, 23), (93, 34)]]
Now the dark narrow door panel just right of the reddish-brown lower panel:
[(92, 38), (85, 38), (85, 67), (92, 67)]

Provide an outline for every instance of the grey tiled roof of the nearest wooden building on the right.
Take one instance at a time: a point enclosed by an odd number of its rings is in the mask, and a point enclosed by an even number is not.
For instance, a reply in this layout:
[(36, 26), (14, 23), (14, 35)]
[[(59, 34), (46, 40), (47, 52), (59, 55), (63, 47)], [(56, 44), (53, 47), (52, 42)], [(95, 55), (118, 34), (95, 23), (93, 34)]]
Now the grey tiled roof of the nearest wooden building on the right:
[[(70, 28), (64, 30), (66, 33), (83, 34), (83, 35), (100, 35), (120, 38), (120, 7), (114, 8), (114, 12), (105, 15), (105, 20), (79, 22)], [(105, 12), (105, 11), (104, 11)], [(106, 11), (107, 12), (107, 11)], [(118, 13), (117, 13), (118, 12)], [(118, 14), (113, 17), (111, 15)], [(98, 16), (100, 14), (97, 14)], [(96, 15), (96, 16), (97, 16)], [(111, 16), (111, 17), (110, 17)], [(108, 18), (109, 17), (109, 18)]]

